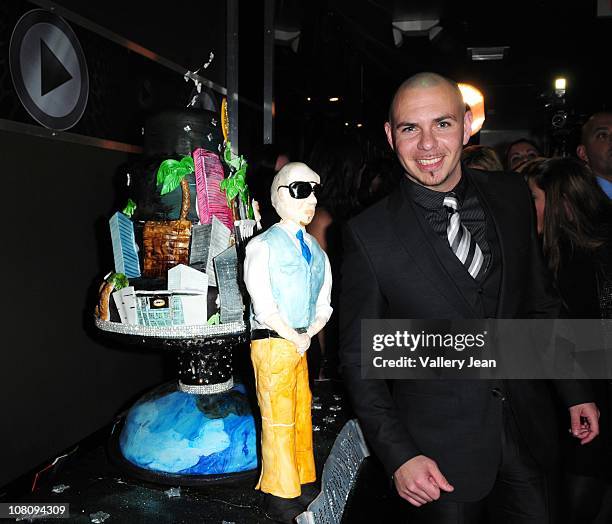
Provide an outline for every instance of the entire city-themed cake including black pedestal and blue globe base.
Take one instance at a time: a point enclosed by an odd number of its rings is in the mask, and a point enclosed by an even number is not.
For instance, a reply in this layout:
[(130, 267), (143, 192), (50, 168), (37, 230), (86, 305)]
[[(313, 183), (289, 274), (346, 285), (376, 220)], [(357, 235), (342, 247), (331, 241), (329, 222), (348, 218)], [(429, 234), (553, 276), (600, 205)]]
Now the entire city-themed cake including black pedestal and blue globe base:
[(95, 310), (110, 336), (177, 357), (178, 381), (137, 401), (111, 446), (136, 476), (174, 485), (257, 468), (232, 368), (232, 348), (246, 342), (240, 256), (255, 221), (246, 161), (220, 120), (191, 109), (145, 124), (145, 154), (125, 169), (127, 204), (109, 221), (115, 267)]

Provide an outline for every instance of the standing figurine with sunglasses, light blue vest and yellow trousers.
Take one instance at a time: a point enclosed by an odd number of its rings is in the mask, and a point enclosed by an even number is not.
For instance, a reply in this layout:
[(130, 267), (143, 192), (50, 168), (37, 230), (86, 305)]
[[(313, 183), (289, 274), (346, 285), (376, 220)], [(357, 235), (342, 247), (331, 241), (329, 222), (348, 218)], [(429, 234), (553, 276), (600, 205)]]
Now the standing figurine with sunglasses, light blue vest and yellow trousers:
[(316, 495), (305, 353), (332, 313), (332, 282), (327, 255), (304, 226), (314, 216), (319, 187), (319, 176), (305, 164), (289, 163), (277, 173), (271, 200), (281, 220), (249, 241), (244, 263), (262, 417), (256, 489), (280, 522), (293, 522)]

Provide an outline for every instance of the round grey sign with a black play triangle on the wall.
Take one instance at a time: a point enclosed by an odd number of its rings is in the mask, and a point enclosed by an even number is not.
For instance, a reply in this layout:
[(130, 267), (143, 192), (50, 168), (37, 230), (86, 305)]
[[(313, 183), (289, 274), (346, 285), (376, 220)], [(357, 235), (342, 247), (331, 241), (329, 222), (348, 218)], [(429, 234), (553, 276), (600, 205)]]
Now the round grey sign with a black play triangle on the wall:
[(87, 105), (87, 63), (63, 18), (36, 9), (23, 15), (11, 37), (10, 68), (19, 100), (50, 129), (74, 126)]

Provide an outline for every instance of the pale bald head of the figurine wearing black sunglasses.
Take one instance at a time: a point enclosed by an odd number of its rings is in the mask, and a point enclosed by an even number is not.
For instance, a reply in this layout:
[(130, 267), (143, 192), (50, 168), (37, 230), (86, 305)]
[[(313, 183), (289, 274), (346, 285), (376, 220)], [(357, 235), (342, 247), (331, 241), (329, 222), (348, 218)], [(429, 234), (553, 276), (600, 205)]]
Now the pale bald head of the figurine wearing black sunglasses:
[(286, 164), (274, 177), (271, 187), (272, 206), (285, 222), (307, 226), (314, 217), (317, 198), (310, 193), (306, 198), (293, 198), (288, 186), (292, 182), (319, 184), (320, 178), (312, 169), (301, 162)]

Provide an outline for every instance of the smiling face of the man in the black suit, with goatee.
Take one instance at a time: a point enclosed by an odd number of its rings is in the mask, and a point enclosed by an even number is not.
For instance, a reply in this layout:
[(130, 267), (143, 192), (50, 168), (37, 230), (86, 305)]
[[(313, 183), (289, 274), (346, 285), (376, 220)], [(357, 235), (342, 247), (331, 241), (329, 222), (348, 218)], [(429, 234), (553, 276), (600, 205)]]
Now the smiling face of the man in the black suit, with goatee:
[(410, 179), (446, 192), (461, 179), (461, 152), (471, 124), (460, 91), (441, 82), (398, 92), (385, 133)]

